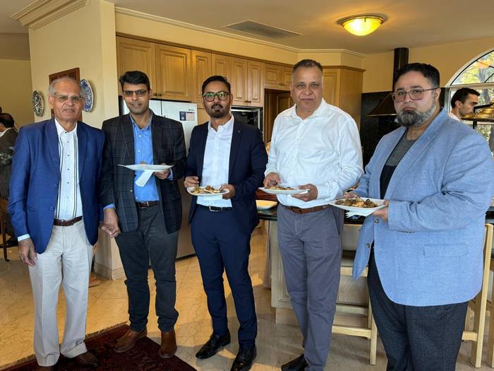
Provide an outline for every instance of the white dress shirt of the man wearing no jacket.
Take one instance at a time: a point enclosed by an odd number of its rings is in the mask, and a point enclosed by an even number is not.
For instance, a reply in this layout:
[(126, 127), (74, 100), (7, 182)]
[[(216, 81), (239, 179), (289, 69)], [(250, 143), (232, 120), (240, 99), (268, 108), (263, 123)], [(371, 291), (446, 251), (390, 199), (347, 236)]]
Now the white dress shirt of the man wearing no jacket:
[(318, 188), (318, 199), (308, 202), (277, 195), (284, 205), (311, 208), (342, 196), (363, 174), (354, 119), (325, 100), (306, 119), (296, 114), (296, 106), (280, 113), (272, 131), (265, 174), (270, 172), (279, 174), (282, 185), (311, 183)]

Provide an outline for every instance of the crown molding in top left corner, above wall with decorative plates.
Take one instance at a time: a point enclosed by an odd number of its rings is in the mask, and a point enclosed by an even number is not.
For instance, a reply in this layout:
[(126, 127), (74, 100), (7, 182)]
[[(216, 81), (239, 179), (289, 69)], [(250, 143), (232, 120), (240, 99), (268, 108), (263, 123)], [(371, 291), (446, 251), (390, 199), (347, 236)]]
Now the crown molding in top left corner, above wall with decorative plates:
[(53, 22), (68, 13), (72, 13), (88, 4), (89, 0), (36, 0), (12, 14), (23, 27), (37, 29)]

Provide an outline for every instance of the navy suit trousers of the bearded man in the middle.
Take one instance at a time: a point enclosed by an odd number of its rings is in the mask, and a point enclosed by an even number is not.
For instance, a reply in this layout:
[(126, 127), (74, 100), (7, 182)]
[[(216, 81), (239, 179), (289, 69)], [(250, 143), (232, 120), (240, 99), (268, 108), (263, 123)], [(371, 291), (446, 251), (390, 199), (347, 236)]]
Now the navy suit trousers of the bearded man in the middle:
[(239, 345), (251, 348), (257, 335), (254, 294), (248, 275), (251, 235), (239, 230), (231, 211), (215, 212), (201, 207), (195, 211), (191, 230), (214, 333), (222, 336), (228, 331), (223, 288), (223, 271), (226, 271), (240, 323)]

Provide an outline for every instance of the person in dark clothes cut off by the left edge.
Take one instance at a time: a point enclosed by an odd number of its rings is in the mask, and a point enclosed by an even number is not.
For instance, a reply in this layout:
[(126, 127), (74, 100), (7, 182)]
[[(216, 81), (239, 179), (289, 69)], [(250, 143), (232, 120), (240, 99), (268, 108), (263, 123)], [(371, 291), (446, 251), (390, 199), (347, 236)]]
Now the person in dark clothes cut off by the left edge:
[[(17, 139), (17, 130), (14, 127), (11, 114), (0, 113), (0, 198), (8, 199), (8, 182), (11, 180), (13, 146)], [(6, 216), (6, 232), (10, 236), (7, 246), (16, 246), (11, 216)]]

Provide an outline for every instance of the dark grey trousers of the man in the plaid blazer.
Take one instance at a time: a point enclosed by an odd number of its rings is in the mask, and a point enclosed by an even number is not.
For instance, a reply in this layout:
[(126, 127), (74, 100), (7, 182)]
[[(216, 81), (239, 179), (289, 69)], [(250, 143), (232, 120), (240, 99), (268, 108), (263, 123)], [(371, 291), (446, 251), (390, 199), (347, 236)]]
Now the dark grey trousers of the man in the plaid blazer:
[(175, 258), (179, 232), (167, 233), (161, 206), (138, 208), (139, 226), (116, 237), (119, 246), (128, 294), (131, 329), (143, 331), (149, 314), (150, 290), (147, 270), (151, 268), (156, 281), (156, 315), (161, 331), (174, 329), (179, 312), (175, 310)]

